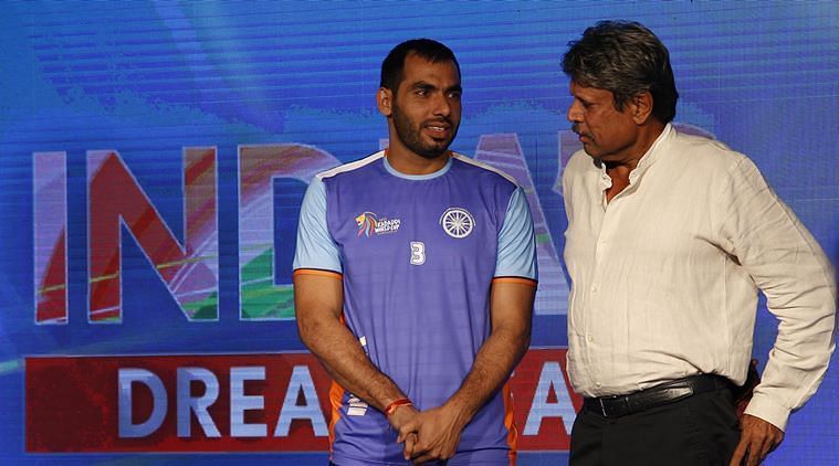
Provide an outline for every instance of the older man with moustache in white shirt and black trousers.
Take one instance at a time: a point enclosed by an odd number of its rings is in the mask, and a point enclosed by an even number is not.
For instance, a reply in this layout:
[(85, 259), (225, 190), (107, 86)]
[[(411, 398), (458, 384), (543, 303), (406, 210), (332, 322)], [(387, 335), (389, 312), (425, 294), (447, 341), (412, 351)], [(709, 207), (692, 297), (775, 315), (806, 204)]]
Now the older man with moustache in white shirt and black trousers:
[[(758, 464), (827, 370), (831, 266), (748, 158), (670, 125), (678, 93), (650, 30), (600, 22), (563, 70), (584, 146), (563, 178), (568, 370), (585, 396), (570, 462)], [(780, 326), (738, 425), (758, 288)]]

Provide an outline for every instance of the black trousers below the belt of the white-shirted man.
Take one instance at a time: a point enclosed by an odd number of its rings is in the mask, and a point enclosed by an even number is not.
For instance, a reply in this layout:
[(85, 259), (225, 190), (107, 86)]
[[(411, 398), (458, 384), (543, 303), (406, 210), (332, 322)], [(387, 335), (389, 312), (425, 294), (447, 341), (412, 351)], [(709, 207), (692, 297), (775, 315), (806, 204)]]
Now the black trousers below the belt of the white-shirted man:
[(727, 465), (740, 442), (731, 390), (720, 389), (620, 417), (577, 414), (570, 465)]

